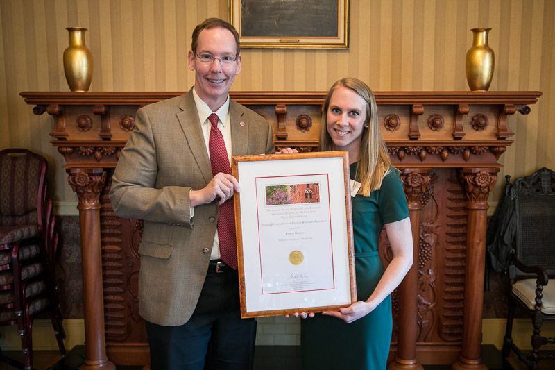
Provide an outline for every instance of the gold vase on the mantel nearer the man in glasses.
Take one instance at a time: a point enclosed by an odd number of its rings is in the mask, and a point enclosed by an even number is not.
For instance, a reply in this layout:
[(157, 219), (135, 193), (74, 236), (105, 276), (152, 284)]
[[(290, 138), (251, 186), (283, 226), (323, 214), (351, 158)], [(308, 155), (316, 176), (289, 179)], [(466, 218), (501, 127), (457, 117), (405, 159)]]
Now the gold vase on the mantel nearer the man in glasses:
[(64, 72), (69, 90), (85, 92), (92, 79), (92, 53), (85, 46), (87, 28), (68, 27), (69, 47), (64, 50)]

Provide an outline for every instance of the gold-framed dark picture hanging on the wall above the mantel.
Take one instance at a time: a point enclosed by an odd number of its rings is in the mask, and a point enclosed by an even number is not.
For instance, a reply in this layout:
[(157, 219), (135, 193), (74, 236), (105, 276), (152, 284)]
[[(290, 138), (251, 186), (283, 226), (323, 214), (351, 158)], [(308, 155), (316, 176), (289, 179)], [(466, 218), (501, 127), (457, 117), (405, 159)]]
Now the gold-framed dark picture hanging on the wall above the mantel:
[(229, 0), (244, 49), (348, 49), (349, 0)]

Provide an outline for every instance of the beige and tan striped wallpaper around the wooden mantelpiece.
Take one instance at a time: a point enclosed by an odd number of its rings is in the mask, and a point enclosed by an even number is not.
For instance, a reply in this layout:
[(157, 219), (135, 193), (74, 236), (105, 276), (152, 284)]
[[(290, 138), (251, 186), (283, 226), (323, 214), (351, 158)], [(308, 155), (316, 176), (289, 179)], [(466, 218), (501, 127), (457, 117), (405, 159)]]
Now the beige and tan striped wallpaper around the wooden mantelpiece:
[[(239, 1), (239, 0), (237, 0)], [(190, 35), (206, 17), (228, 19), (228, 0), (0, 0), (0, 148), (24, 147), (49, 160), (57, 201), (75, 201), (53, 121), (35, 116), (22, 91), (69, 91), (62, 67), (68, 26), (89, 28), (90, 91), (185, 91)], [(515, 143), (504, 174), (555, 169), (555, 1), (350, 0), (350, 48), (244, 49), (233, 90), (327, 90), (356, 76), (377, 91), (468, 90), (470, 28), (488, 26), (495, 51), (490, 90), (540, 90), (528, 116), (511, 118)]]

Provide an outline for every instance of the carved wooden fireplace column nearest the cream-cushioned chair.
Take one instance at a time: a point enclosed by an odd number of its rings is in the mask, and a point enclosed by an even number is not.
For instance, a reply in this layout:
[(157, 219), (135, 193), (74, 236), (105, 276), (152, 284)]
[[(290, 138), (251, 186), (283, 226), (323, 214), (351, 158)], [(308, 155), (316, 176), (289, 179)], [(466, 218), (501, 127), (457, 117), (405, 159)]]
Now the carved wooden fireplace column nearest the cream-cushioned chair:
[(464, 283), (464, 321), (461, 357), (453, 370), (488, 369), (481, 362), (481, 319), (484, 304), (486, 224), (488, 196), (497, 180), (498, 168), (463, 169), (466, 190), (467, 233)]

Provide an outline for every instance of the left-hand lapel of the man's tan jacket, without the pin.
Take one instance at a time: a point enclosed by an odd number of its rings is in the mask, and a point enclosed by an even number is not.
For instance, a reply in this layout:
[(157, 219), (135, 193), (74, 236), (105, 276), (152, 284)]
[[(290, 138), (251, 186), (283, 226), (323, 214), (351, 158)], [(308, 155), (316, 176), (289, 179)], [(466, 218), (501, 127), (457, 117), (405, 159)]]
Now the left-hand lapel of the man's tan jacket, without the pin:
[[(191, 88), (192, 89), (192, 88)], [(210, 167), (210, 158), (206, 151), (206, 144), (204, 142), (203, 130), (198, 121), (198, 112), (193, 97), (192, 90), (183, 95), (183, 99), (179, 103), (179, 108), (182, 112), (178, 113), (178, 120), (185, 135), (185, 139), (191, 148), (194, 159), (200, 168), (200, 173), (206, 183), (212, 180), (212, 167)]]

